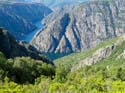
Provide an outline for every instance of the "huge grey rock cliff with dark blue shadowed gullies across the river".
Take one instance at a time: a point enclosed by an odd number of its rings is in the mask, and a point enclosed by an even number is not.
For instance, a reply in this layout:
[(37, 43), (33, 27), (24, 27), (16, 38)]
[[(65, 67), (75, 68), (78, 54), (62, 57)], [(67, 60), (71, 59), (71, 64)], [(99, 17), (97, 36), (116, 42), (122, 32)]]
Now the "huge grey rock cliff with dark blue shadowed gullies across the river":
[(92, 1), (50, 14), (32, 44), (42, 52), (84, 51), (125, 32), (125, 0)]

